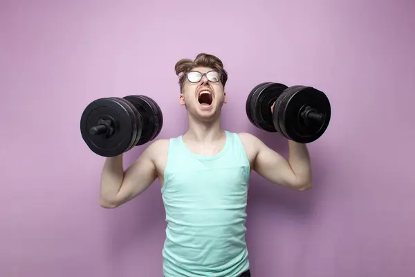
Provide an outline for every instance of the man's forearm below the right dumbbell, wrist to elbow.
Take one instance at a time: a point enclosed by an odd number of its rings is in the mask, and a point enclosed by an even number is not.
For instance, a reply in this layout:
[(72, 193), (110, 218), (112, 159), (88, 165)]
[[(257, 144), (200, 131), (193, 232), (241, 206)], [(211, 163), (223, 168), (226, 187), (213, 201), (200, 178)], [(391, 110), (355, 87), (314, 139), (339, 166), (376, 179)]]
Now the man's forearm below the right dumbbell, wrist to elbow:
[(311, 161), (305, 144), (288, 141), (288, 163), (300, 186), (311, 186)]

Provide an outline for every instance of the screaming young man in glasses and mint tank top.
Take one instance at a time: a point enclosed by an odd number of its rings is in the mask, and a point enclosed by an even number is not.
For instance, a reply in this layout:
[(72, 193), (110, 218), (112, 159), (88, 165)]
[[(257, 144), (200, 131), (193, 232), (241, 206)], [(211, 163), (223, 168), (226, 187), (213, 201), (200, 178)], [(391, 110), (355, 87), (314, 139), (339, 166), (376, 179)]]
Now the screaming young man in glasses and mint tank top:
[(151, 143), (125, 172), (122, 155), (107, 158), (101, 205), (120, 206), (158, 178), (167, 220), (165, 277), (250, 276), (245, 242), (250, 170), (274, 184), (311, 188), (306, 145), (288, 141), (287, 161), (252, 134), (223, 130), (228, 73), (214, 55), (181, 60), (176, 74), (189, 129), (183, 136)]

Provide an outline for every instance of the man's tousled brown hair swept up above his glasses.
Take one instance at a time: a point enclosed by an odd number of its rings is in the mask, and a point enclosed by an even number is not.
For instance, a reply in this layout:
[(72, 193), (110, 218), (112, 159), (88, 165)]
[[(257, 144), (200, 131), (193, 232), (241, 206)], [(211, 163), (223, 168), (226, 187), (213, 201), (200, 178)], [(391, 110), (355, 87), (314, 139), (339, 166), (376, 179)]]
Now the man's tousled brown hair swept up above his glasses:
[(180, 91), (183, 89), (183, 84), (185, 83), (185, 73), (194, 69), (194, 67), (210, 67), (221, 73), (221, 82), (223, 87), (225, 87), (226, 81), (228, 80), (228, 73), (223, 69), (223, 62), (214, 55), (200, 53), (196, 56), (194, 60), (182, 59), (179, 60), (174, 66), (176, 75), (178, 75), (178, 84), (180, 84)]

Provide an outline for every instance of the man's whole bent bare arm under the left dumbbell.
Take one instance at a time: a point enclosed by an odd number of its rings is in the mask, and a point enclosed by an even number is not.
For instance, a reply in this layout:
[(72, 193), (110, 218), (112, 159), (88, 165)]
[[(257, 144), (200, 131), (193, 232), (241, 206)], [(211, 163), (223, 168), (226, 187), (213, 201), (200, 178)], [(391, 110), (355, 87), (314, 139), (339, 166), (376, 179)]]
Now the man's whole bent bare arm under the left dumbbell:
[(100, 206), (116, 208), (140, 195), (156, 180), (154, 153), (157, 143), (151, 143), (125, 172), (122, 154), (106, 159), (101, 175)]

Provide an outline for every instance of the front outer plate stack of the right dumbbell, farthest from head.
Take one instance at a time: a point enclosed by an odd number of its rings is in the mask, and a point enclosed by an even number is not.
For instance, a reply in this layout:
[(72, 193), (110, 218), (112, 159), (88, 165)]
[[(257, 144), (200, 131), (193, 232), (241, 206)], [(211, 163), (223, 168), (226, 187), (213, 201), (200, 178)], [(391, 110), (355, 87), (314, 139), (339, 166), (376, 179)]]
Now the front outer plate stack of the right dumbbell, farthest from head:
[[(319, 139), (326, 132), (331, 118), (331, 105), (326, 94), (306, 86), (290, 87), (283, 94), (277, 114), (282, 134), (298, 143), (311, 143)], [(304, 120), (301, 113), (306, 106), (313, 107), (323, 114), (324, 120)]]

